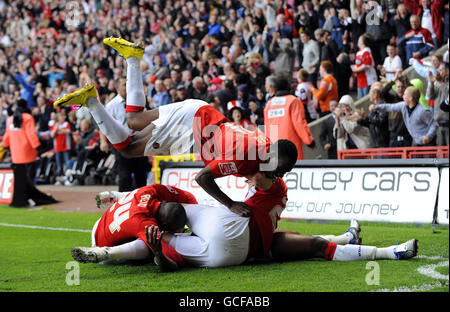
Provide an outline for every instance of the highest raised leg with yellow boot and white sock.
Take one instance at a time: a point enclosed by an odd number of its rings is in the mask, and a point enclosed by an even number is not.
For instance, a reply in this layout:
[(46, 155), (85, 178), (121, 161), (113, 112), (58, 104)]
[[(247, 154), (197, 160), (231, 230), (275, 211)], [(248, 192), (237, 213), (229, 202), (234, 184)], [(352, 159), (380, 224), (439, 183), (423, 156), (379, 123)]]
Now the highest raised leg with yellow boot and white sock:
[(144, 47), (140, 44), (114, 37), (105, 38), (103, 43), (119, 52), (127, 62), (127, 123), (130, 129), (142, 130), (159, 117), (157, 108), (144, 111), (145, 92), (141, 72), (141, 59), (144, 54)]

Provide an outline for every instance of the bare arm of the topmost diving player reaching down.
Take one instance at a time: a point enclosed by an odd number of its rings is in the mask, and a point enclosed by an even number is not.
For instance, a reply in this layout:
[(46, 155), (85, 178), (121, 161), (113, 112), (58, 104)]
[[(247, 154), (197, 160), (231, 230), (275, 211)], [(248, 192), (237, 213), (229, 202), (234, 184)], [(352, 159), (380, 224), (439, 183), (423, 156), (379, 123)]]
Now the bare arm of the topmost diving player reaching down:
[(230, 197), (222, 192), (214, 180), (214, 175), (210, 170), (210, 166), (206, 166), (195, 177), (195, 181), (200, 185), (206, 193), (211, 195), (222, 205), (228, 207), (234, 213), (237, 213), (243, 217), (249, 217), (251, 215), (250, 207), (243, 202), (235, 202)]

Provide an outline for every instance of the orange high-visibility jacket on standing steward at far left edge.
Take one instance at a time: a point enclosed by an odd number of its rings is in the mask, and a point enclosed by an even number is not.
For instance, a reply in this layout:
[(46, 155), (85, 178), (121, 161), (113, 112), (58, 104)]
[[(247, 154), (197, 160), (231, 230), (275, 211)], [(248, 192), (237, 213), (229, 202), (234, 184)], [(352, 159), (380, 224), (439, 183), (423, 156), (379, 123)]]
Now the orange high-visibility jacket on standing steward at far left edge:
[(9, 147), (13, 164), (28, 164), (36, 161), (36, 148), (41, 145), (36, 134), (34, 118), (30, 114), (22, 114), (22, 127), (16, 128), (8, 118), (3, 146)]

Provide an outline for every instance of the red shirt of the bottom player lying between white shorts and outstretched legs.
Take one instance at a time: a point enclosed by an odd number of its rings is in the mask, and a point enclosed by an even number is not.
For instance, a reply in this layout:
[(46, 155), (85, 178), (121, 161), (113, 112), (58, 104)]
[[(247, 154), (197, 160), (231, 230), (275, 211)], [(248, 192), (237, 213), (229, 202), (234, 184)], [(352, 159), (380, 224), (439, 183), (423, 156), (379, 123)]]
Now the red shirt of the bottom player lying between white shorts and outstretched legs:
[(250, 248), (248, 256), (263, 256), (272, 246), (273, 232), (287, 203), (287, 186), (278, 178), (272, 187), (263, 191), (255, 188), (245, 203), (252, 208), (250, 218)]

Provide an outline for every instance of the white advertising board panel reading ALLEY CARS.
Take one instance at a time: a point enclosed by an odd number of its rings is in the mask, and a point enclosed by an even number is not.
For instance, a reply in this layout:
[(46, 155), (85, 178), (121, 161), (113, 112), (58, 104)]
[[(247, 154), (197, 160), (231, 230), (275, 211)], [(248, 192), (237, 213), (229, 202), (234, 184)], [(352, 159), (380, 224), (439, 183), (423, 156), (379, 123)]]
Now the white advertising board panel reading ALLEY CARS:
[(438, 168), (295, 168), (283, 218), (431, 223)]

